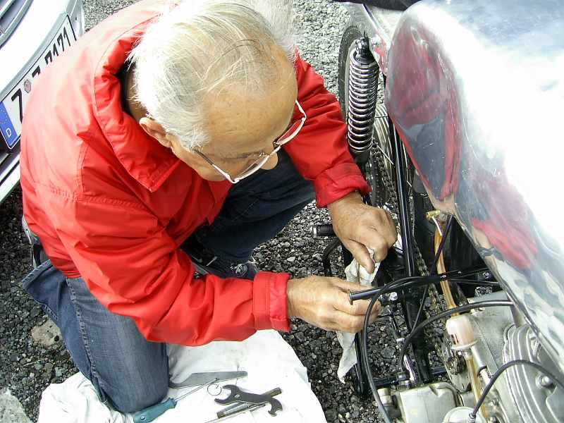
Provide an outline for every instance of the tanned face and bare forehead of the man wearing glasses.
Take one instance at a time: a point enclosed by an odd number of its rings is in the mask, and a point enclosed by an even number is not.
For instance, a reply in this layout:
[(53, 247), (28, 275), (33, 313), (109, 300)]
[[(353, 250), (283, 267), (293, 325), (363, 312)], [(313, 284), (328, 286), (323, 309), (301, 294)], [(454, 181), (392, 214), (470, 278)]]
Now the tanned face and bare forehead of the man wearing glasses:
[[(280, 63), (278, 78), (263, 96), (227, 87), (204, 99), (209, 143), (201, 152), (231, 178), (245, 171), (261, 153), (270, 154), (273, 142), (282, 135), (293, 116), (298, 87), (293, 64), (280, 49), (274, 51)], [(188, 152), (178, 140), (170, 138), (174, 154), (206, 180), (224, 180), (199, 154)], [(278, 163), (276, 154), (263, 169)]]

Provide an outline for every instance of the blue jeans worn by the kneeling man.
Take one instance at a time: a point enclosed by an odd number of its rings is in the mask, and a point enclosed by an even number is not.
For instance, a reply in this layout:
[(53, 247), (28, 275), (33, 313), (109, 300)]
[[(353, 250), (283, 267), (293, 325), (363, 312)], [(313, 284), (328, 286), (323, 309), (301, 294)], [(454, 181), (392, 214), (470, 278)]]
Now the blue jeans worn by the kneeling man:
[[(212, 226), (196, 235), (219, 257), (244, 262), (313, 199), (312, 183), (282, 151), (276, 168), (234, 185)], [(26, 276), (23, 288), (59, 326), (76, 367), (92, 381), (102, 402), (135, 412), (164, 398), (166, 345), (147, 341), (132, 319), (109, 312), (82, 278), (66, 278), (47, 261)]]

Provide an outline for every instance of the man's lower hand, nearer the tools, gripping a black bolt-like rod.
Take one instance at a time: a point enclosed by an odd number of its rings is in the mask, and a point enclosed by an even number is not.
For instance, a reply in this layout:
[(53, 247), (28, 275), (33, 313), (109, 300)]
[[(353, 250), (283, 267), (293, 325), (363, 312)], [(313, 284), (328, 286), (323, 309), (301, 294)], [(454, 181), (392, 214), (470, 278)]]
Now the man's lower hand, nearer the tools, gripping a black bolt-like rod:
[[(356, 333), (362, 330), (369, 300), (350, 305), (348, 291), (366, 287), (339, 278), (309, 276), (288, 281), (288, 317), (299, 317), (326, 331)], [(372, 323), (380, 312), (376, 302), (370, 315)]]

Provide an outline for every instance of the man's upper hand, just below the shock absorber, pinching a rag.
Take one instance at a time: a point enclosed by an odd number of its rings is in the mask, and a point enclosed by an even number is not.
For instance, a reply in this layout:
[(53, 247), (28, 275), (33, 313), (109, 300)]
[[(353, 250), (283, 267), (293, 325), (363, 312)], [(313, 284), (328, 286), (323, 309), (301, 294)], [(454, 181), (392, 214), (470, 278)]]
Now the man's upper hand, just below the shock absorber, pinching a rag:
[(384, 209), (362, 202), (358, 192), (351, 192), (327, 206), (333, 231), (364, 269), (374, 271), (374, 261), (367, 247), (374, 251), (374, 260), (381, 262), (396, 243), (398, 233), (391, 215)]

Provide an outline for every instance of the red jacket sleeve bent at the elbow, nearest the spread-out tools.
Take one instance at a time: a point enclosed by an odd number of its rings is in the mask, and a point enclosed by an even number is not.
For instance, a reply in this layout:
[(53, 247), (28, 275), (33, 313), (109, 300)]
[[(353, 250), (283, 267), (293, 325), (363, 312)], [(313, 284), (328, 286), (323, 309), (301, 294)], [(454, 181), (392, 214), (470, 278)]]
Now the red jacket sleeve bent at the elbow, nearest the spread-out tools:
[(149, 341), (202, 345), (289, 330), (288, 274), (195, 279), (188, 255), (142, 204), (59, 200), (68, 209), (57, 232), (88, 288)]

